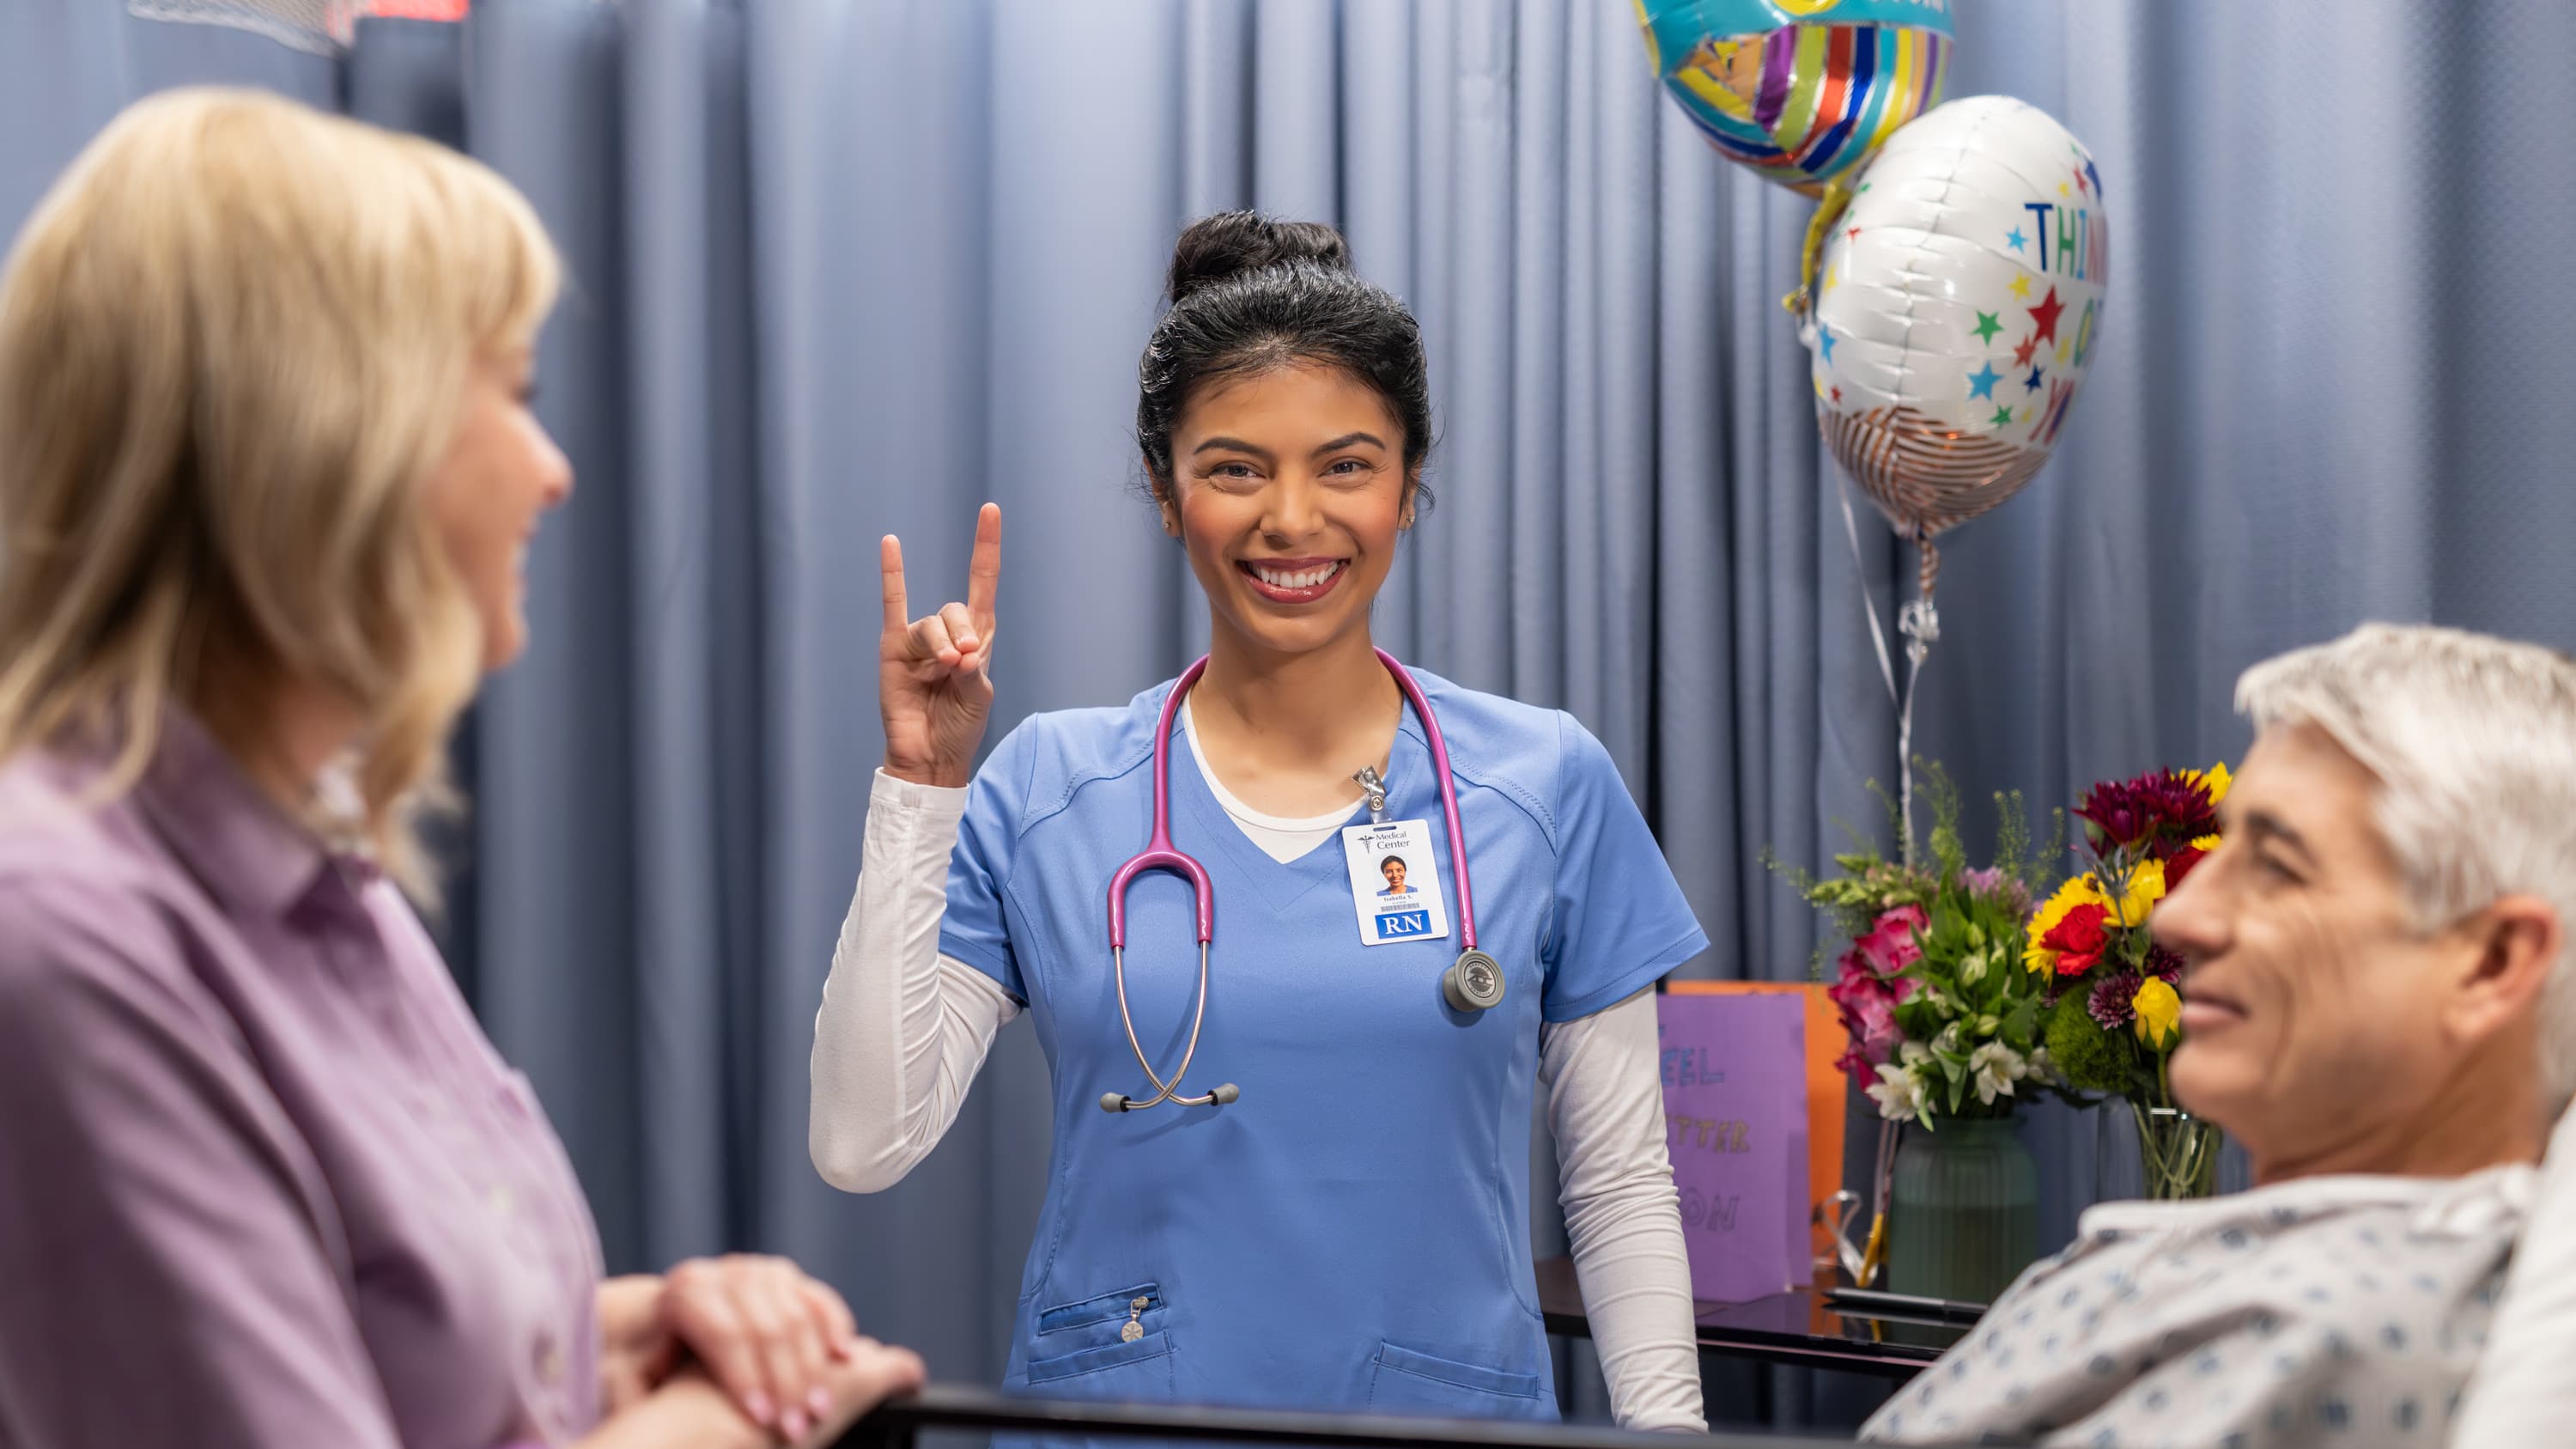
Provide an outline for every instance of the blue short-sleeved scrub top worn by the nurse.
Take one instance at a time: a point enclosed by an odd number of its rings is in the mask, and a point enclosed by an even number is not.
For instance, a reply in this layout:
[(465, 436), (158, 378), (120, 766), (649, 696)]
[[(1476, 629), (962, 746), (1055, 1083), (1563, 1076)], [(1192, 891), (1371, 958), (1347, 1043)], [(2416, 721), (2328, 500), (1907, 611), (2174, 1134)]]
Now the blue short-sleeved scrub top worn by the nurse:
[[(1182, 1091), (1236, 1083), (1231, 1106), (1097, 1106), (1154, 1093), (1118, 1021), (1108, 884), (1149, 833), (1172, 686), (1126, 709), (1036, 714), (976, 771), (940, 951), (1028, 1003), (1056, 1101), (1007, 1387), (1556, 1418), (1530, 1269), (1538, 1026), (1628, 998), (1708, 936), (1571, 714), (1417, 678), (1448, 735), (1476, 941), (1504, 998), (1466, 1016), (1440, 995), (1458, 902), (1412, 709), (1386, 810), (1430, 822), (1450, 897), (1440, 941), (1360, 946), (1340, 835), (1273, 861), (1175, 740), (1172, 843), (1216, 890), (1208, 1018)], [(1180, 1060), (1195, 993), (1190, 887), (1146, 874), (1128, 892), (1128, 1003), (1157, 1070)]]

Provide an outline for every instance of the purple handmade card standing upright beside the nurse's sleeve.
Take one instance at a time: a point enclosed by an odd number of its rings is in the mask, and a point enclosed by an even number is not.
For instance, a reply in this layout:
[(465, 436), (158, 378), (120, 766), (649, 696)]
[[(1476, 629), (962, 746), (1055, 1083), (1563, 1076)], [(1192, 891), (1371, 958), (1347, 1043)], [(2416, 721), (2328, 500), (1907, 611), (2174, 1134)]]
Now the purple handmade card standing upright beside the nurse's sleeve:
[(1811, 1274), (1806, 1000), (1667, 993), (1656, 1016), (1690, 1297), (1785, 1292)]

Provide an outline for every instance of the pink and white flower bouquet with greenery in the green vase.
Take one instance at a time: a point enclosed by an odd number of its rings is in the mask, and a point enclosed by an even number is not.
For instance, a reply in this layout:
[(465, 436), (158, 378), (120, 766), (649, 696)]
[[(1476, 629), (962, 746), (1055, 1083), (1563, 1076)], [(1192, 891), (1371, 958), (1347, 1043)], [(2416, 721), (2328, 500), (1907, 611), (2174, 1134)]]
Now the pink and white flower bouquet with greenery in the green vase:
[(1996, 797), (1994, 864), (1968, 869), (1958, 789), (1924, 768), (1929, 864), (1878, 851), (1834, 856), (1837, 877), (1790, 871), (1801, 895), (1852, 946), (1826, 987), (1850, 1034), (1839, 1067), (1891, 1122), (2007, 1116), (2025, 1083), (2050, 1085), (2038, 977), (2025, 957), (2032, 900), (2030, 830), (2020, 794)]

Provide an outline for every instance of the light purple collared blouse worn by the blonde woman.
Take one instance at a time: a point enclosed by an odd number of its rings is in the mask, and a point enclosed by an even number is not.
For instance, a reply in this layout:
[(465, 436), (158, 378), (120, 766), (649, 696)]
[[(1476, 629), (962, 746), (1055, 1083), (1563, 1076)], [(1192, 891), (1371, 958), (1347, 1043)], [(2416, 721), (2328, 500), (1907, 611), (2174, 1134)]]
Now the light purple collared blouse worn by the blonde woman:
[(0, 1446), (598, 1418), (598, 1232), (402, 895), (173, 714), (0, 766)]

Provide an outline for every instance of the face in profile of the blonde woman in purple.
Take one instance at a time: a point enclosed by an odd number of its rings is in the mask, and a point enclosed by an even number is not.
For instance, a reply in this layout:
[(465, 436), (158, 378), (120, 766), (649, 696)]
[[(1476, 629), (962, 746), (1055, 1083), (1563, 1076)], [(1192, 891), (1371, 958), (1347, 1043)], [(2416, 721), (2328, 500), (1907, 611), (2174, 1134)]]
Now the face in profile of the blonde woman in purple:
[(428, 482), (430, 526), (482, 619), (487, 670), (528, 639), (528, 539), (572, 495), (572, 464), (528, 410), (528, 353), (482, 358), (466, 379), (464, 425)]

